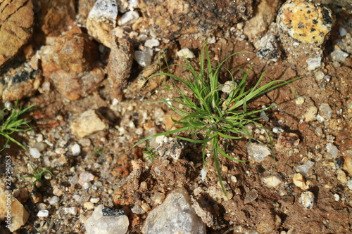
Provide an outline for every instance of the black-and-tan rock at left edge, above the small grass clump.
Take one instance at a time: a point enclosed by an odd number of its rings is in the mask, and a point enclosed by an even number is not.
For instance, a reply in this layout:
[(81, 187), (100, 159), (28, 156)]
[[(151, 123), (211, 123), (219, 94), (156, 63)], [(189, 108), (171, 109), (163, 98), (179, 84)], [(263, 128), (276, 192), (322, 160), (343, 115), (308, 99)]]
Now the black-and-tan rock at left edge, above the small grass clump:
[(4, 101), (32, 96), (42, 82), (42, 72), (34, 70), (28, 63), (23, 63), (15, 69), (9, 68), (2, 77), (4, 83), (0, 82), (0, 93)]

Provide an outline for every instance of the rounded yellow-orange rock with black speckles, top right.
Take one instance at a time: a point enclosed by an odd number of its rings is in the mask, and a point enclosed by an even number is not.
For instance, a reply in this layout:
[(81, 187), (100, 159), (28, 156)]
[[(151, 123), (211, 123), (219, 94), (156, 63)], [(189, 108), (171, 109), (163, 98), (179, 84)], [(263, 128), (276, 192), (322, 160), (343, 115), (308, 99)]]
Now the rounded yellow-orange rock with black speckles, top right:
[(309, 44), (322, 44), (332, 29), (332, 11), (310, 0), (289, 0), (279, 9), (277, 25), (290, 37)]

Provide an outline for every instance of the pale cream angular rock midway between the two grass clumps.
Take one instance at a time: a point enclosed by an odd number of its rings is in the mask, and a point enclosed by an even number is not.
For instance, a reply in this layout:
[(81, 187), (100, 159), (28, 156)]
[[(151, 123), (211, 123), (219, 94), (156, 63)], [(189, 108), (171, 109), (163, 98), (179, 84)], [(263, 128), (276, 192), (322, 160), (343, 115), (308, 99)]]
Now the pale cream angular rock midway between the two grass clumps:
[(70, 126), (71, 131), (80, 138), (94, 134), (97, 131), (102, 131), (106, 127), (106, 124), (99, 119), (99, 116), (92, 109), (83, 112)]

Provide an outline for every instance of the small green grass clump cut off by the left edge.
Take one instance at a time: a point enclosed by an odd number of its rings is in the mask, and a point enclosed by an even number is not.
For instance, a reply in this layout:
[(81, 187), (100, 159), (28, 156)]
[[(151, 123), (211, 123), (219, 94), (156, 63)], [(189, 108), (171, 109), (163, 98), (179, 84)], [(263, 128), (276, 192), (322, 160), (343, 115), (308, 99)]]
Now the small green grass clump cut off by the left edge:
[[(10, 141), (16, 143), (18, 146), (20, 146), (20, 148), (23, 148), (23, 150), (27, 150), (25, 145), (21, 144), (19, 141), (16, 141), (15, 138), (11, 136), (11, 134), (16, 131), (29, 131), (33, 129), (28, 125), (30, 121), (20, 118), (20, 115), (23, 115), (23, 113), (29, 112), (31, 110), (33, 110), (33, 105), (30, 105), (27, 108), (23, 108), (22, 105), (18, 105), (18, 101), (16, 101), (14, 108), (4, 108), (0, 111), (0, 136), (4, 136), (4, 138), (6, 138), (6, 142), (0, 151), (4, 150)], [(10, 112), (10, 114), (6, 116), (6, 112)]]

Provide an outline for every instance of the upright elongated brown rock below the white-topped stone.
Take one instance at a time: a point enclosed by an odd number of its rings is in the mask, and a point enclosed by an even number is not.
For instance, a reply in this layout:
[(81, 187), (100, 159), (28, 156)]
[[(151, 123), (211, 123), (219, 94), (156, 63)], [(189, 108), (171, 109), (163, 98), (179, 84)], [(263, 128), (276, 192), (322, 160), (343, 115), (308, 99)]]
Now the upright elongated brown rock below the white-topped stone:
[[(111, 33), (113, 34), (113, 32)], [(122, 89), (127, 87), (133, 63), (133, 47), (129, 39), (112, 36), (108, 59), (108, 82), (113, 87), (113, 97), (122, 98)]]

